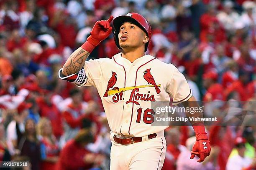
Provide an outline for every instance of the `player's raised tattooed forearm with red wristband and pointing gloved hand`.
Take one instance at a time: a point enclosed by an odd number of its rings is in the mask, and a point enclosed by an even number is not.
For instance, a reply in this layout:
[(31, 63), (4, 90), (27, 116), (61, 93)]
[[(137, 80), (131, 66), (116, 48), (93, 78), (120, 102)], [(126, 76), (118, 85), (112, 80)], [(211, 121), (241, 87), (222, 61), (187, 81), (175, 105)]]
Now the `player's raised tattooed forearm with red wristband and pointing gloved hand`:
[(90, 32), (91, 35), (87, 38), (87, 41), (84, 42), (81, 47), (75, 50), (65, 62), (61, 70), (62, 75), (73, 75), (82, 69), (85, 60), (90, 55), (92, 50), (110, 35), (112, 31), (110, 23), (112, 20), (113, 16), (110, 16), (108, 20), (100, 20), (95, 23), (92, 31)]

